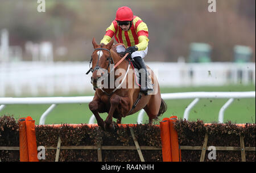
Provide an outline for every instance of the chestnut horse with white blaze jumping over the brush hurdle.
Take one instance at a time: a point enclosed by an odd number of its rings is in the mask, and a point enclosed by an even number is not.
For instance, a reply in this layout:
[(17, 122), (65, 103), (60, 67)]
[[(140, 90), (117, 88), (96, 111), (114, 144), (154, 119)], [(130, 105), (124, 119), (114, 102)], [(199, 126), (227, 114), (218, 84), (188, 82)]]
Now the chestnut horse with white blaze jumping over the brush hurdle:
[[(160, 95), (160, 88), (156, 78), (153, 78), (154, 72), (151, 71), (151, 81), (154, 84), (154, 91), (157, 91), (154, 95), (145, 95), (140, 92), (140, 88), (98, 88), (97, 81), (101, 78), (104, 72), (99, 73), (99, 70), (105, 69), (106, 72), (110, 73), (110, 65), (117, 65), (115, 70), (127, 69), (133, 70), (132, 66), (129, 65), (128, 60), (120, 61), (122, 57), (113, 48), (114, 39), (109, 44), (98, 45), (95, 38), (92, 40), (94, 51), (90, 63), (92, 67), (88, 73), (92, 72), (91, 83), (96, 88), (94, 98), (89, 103), (89, 109), (93, 112), (96, 117), (97, 123), (102, 129), (106, 131), (112, 131), (115, 128), (113, 123), (113, 117), (117, 119), (117, 124), (121, 124), (122, 117), (133, 115), (133, 113), (144, 109), (148, 116), (148, 123), (152, 124), (153, 119), (157, 119), (158, 116), (166, 112), (167, 106)], [(150, 69), (147, 66), (147, 69)], [(86, 73), (86, 74), (88, 74)], [(120, 78), (120, 75), (114, 76), (114, 79)], [(133, 73), (133, 84), (135, 75)], [(127, 81), (123, 80), (127, 85)], [(138, 95), (141, 98), (138, 100)], [(134, 104), (137, 102), (136, 104)], [(99, 113), (107, 112), (108, 116), (104, 121)]]

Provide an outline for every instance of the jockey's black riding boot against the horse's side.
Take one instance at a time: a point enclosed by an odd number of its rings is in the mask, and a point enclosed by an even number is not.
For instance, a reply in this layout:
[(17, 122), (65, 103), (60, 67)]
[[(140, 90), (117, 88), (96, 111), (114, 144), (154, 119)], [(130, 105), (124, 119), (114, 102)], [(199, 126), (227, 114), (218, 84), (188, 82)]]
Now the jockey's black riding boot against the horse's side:
[(146, 83), (145, 86), (143, 87), (142, 82), (141, 82), (141, 91), (142, 92), (147, 92), (147, 91), (153, 91), (153, 86), (152, 86), (152, 82), (151, 82), (151, 78), (148, 75), (148, 71), (147, 71), (147, 67), (145, 65), (144, 60), (141, 57), (134, 57), (133, 58), (135, 62), (137, 62), (139, 64), (139, 66), (141, 67), (141, 69), (144, 69), (142, 72), (144, 72), (144, 75), (141, 75), (141, 81), (142, 77), (146, 77)]

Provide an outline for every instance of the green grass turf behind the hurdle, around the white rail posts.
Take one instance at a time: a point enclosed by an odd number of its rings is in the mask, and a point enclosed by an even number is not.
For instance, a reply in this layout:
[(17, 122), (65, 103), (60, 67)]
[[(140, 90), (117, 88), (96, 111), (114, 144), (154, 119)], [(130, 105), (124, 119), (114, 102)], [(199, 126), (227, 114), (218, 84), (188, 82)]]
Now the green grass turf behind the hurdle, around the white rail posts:
[[(196, 92), (196, 91), (255, 91), (255, 86), (221, 86), (221, 87), (179, 87), (179, 88), (161, 88), (162, 93), (168, 92)], [(93, 95), (93, 92), (86, 94), (71, 95), (54, 95), (54, 96), (85, 96)], [(193, 99), (182, 100), (166, 100), (167, 112), (159, 119), (176, 115), (179, 119), (183, 118), (185, 108), (193, 101)], [(218, 121), (218, 112), (228, 99), (200, 99), (189, 113), (189, 120), (203, 120), (205, 123), (213, 123)], [(48, 105), (7, 105), (0, 112), (0, 115), (13, 115), (15, 119), (20, 117), (31, 116), (36, 124), (39, 124), (40, 116)], [(46, 119), (46, 124), (60, 123), (88, 123), (92, 112), (90, 112), (88, 104), (59, 104)], [(101, 117), (105, 120), (107, 113), (101, 113)], [(138, 112), (134, 115), (127, 116), (122, 119), (123, 124), (137, 123)], [(114, 119), (115, 121), (115, 119)], [(143, 123), (147, 123), (148, 118), (144, 113)], [(232, 121), (232, 123), (255, 123), (255, 99), (235, 99), (234, 102), (226, 109), (224, 113), (224, 122)], [(155, 121), (159, 124), (159, 120)]]

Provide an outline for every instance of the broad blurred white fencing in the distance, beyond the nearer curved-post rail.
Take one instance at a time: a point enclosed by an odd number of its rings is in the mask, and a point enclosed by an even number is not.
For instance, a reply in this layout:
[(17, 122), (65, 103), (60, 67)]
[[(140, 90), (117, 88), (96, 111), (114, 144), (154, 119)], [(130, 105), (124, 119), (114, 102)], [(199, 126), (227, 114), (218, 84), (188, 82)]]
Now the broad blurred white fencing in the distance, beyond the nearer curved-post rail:
[[(161, 87), (255, 85), (255, 62), (147, 62)], [(0, 62), (0, 97), (92, 92), (89, 62)], [(168, 79), (168, 80), (167, 80)]]

